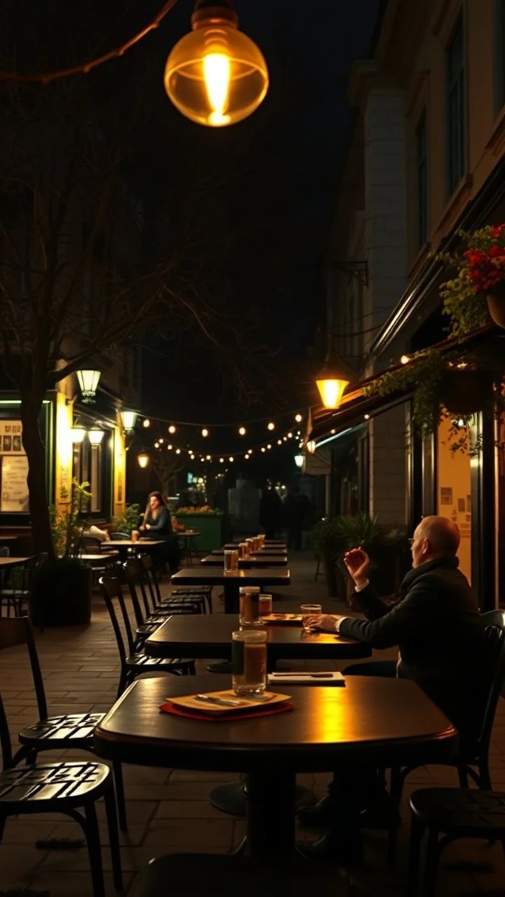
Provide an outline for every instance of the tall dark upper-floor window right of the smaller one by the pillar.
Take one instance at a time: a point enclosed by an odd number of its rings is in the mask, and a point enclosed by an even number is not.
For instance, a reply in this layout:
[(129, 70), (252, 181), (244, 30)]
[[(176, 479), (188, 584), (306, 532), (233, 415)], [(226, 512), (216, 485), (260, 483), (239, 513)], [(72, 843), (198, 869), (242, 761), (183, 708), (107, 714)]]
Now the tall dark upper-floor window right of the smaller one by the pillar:
[(454, 193), (465, 174), (465, 34), (460, 18), (446, 51), (447, 187)]

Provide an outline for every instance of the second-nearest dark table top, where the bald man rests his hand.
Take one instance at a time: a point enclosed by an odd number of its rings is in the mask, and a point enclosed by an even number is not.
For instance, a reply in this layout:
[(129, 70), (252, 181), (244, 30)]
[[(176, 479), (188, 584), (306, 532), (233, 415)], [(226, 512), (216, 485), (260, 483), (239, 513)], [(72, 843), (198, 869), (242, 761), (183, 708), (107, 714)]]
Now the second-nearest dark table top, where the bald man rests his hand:
[[(230, 658), (236, 614), (173, 614), (146, 640), (146, 654), (157, 658)], [(300, 626), (266, 626), (271, 660), (369, 658), (363, 641), (330, 632), (305, 633)]]

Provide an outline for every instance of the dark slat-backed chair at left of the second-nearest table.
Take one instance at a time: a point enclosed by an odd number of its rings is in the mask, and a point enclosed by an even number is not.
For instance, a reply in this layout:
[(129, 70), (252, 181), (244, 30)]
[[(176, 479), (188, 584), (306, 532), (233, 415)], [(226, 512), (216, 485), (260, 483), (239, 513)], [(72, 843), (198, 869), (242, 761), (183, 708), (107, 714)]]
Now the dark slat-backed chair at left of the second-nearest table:
[[(173, 675), (195, 675), (195, 661), (180, 658), (150, 658), (142, 651), (136, 651), (135, 640), (129, 622), (128, 608), (119, 579), (100, 579), (103, 600), (111, 617), (112, 629), (116, 636), (118, 650), (120, 652), (120, 682), (118, 684), (118, 698), (124, 692), (137, 675), (146, 671), (155, 673), (173, 673)], [(126, 642), (120, 627), (120, 619), (116, 612), (114, 602), (120, 605), (121, 620), (126, 633)]]

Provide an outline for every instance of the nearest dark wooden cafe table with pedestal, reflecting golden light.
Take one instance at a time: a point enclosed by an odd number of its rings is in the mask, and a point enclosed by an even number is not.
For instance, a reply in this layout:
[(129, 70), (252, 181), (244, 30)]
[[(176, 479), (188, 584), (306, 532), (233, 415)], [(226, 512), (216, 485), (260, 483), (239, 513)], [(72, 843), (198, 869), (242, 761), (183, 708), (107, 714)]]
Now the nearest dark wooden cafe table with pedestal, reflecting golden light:
[(350, 676), (341, 688), (276, 686), (294, 709), (257, 719), (190, 719), (162, 713), (165, 699), (223, 689), (223, 677), (139, 677), (94, 730), (94, 753), (118, 763), (247, 773), (251, 856), (296, 852), (296, 775), (444, 762), (456, 729), (408, 679)]

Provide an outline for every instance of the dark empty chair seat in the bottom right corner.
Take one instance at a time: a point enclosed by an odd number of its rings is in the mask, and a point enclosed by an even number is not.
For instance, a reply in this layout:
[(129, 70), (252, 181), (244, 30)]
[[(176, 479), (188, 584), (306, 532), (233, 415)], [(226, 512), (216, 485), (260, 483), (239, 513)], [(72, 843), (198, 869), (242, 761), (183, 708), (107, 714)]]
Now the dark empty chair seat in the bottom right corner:
[(474, 788), (424, 788), (411, 797), (412, 813), (425, 828), (487, 838), (505, 834), (505, 794)]

